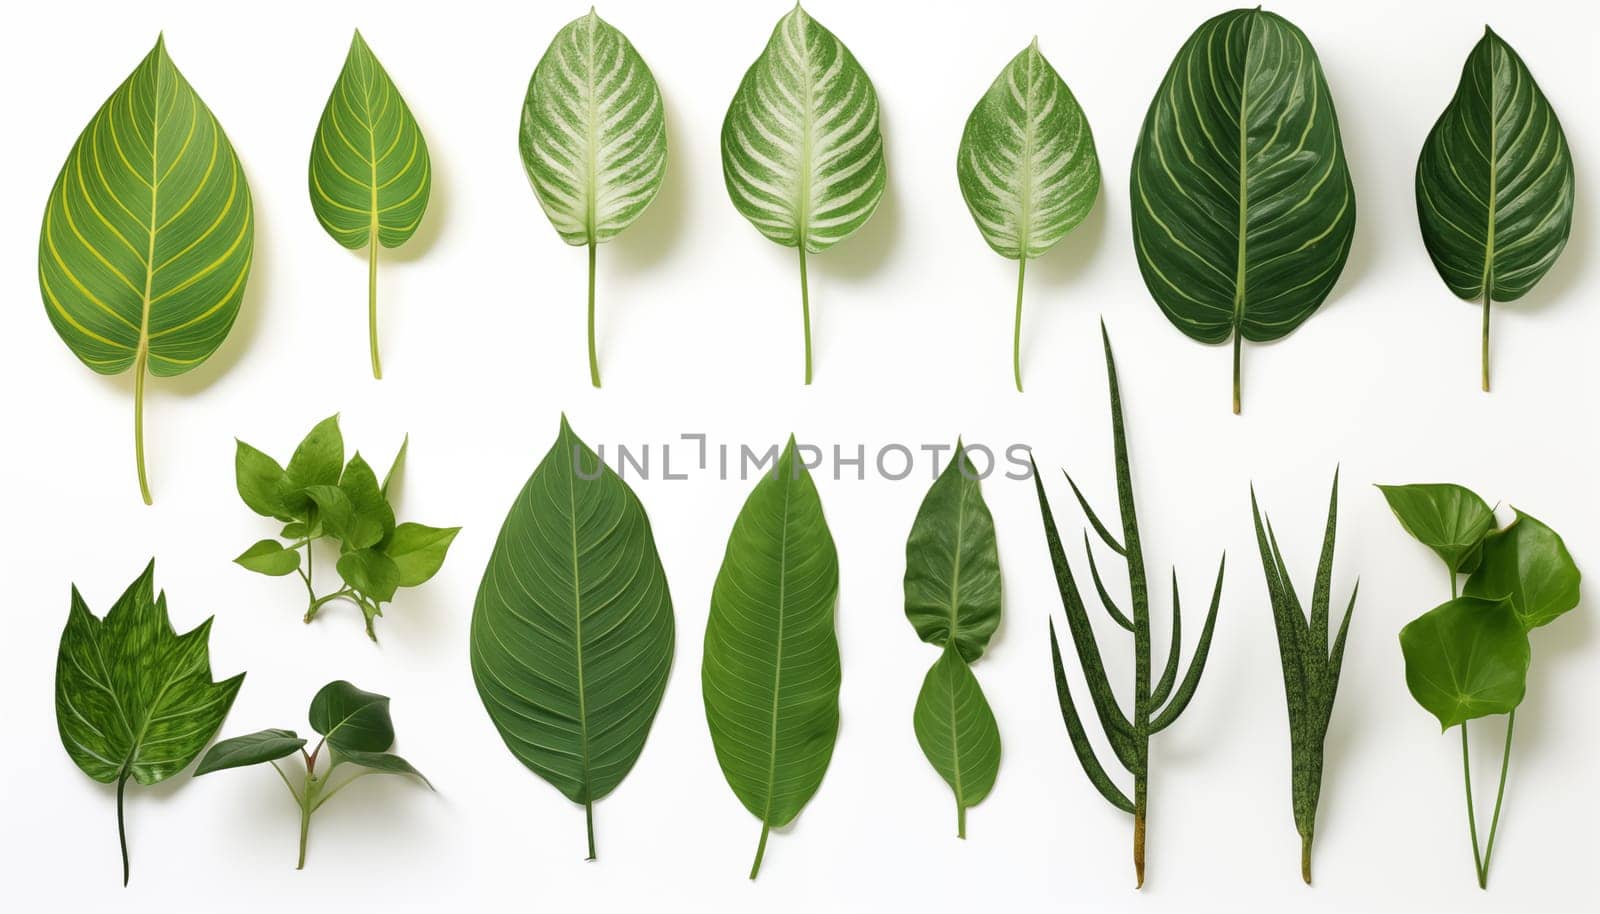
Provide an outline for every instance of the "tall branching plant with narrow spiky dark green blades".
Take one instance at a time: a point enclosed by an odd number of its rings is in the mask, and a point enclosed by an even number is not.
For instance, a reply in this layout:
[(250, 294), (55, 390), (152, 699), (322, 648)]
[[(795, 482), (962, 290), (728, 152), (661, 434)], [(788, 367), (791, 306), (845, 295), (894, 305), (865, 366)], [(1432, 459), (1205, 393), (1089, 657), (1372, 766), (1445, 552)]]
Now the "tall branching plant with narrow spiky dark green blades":
[(1117, 362), (1110, 352), (1110, 336), (1101, 323), (1101, 341), (1106, 347), (1106, 376), (1110, 386), (1110, 432), (1117, 459), (1117, 504), (1122, 511), (1122, 541), (1112, 536), (1110, 530), (1101, 523), (1078, 485), (1067, 475), (1067, 485), (1077, 496), (1083, 514), (1088, 517), (1094, 533), (1106, 546), (1120, 555), (1128, 565), (1128, 594), (1131, 613), (1117, 608), (1106, 591), (1094, 565), (1094, 552), (1090, 549), (1088, 531), (1083, 533), (1083, 551), (1088, 555), (1090, 575), (1094, 579), (1094, 591), (1106, 605), (1106, 613), (1112, 621), (1133, 634), (1134, 651), (1134, 683), (1133, 683), (1133, 716), (1123, 714), (1112, 693), (1110, 680), (1106, 677), (1106, 664), (1101, 659), (1099, 643), (1094, 640), (1094, 627), (1090, 624), (1083, 597), (1078, 594), (1077, 579), (1067, 563), (1067, 554), (1061, 547), (1061, 535), (1056, 531), (1056, 520), (1050, 512), (1050, 498), (1045, 495), (1045, 483), (1038, 477), (1038, 466), (1034, 466), (1034, 488), (1038, 493), (1038, 514), (1045, 522), (1045, 543), (1050, 546), (1050, 563), (1056, 571), (1056, 586), (1061, 591), (1061, 603), (1067, 613), (1067, 626), (1072, 629), (1072, 643), (1077, 647), (1078, 664), (1083, 667), (1083, 680), (1088, 683), (1090, 700), (1094, 716), (1106, 732), (1106, 741), (1123, 768), (1133, 775), (1133, 797), (1130, 799), (1094, 756), (1088, 735), (1083, 732), (1083, 720), (1077, 704), (1067, 688), (1067, 672), (1061, 663), (1061, 645), (1056, 640), (1056, 623), (1050, 623), (1050, 659), (1056, 669), (1056, 698), (1061, 703), (1061, 719), (1067, 725), (1067, 736), (1072, 749), (1083, 765), (1094, 788), (1110, 805), (1133, 816), (1133, 869), (1138, 885), (1144, 885), (1144, 823), (1146, 823), (1146, 784), (1150, 772), (1150, 735), (1173, 725), (1189, 708), (1195, 688), (1200, 685), (1200, 674), (1205, 671), (1205, 659), (1211, 650), (1211, 632), (1216, 629), (1216, 611), (1222, 602), (1222, 571), (1227, 568), (1227, 555), (1216, 568), (1216, 586), (1211, 591), (1211, 610), (1206, 613), (1205, 627), (1195, 643), (1195, 653), (1189, 661), (1189, 671), (1182, 682), (1178, 680), (1179, 647), (1182, 643), (1182, 615), (1178, 605), (1178, 571), (1173, 571), (1173, 635), (1166, 653), (1166, 667), (1160, 680), (1150, 687), (1150, 589), (1144, 576), (1144, 551), (1139, 547), (1139, 519), (1133, 504), (1133, 477), (1128, 471), (1128, 440), (1122, 424), (1122, 395), (1117, 391)]

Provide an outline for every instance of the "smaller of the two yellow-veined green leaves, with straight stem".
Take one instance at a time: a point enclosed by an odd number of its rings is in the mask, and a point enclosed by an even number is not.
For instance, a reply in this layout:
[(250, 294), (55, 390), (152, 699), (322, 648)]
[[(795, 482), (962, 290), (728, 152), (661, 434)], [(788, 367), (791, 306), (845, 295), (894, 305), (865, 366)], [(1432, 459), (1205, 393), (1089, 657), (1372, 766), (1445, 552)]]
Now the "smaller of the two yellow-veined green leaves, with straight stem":
[(434, 173), (427, 141), (389, 72), (357, 30), (310, 147), (310, 206), (346, 248), (366, 248), (366, 336), (378, 359), (378, 247), (398, 248), (422, 222)]

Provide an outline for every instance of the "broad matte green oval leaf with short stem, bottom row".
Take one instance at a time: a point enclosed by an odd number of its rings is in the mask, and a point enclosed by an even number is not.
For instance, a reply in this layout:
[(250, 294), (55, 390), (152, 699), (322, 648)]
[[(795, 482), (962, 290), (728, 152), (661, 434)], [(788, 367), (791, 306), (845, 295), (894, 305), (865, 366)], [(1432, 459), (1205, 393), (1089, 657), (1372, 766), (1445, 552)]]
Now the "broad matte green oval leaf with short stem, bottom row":
[(490, 554), (472, 679), (512, 756), (584, 805), (645, 748), (672, 667), (672, 595), (634, 490), (566, 416)]

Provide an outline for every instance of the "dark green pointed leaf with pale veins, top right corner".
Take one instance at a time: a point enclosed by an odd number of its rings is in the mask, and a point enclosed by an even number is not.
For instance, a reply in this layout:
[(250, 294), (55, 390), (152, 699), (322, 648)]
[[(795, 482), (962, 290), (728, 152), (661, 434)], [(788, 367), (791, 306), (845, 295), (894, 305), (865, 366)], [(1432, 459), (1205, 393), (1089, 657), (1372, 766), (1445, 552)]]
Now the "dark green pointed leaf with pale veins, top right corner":
[(1450, 291), (1483, 303), (1488, 391), (1490, 303), (1526, 295), (1573, 229), (1573, 157), (1562, 122), (1517, 51), (1488, 27), (1422, 144), (1416, 214)]

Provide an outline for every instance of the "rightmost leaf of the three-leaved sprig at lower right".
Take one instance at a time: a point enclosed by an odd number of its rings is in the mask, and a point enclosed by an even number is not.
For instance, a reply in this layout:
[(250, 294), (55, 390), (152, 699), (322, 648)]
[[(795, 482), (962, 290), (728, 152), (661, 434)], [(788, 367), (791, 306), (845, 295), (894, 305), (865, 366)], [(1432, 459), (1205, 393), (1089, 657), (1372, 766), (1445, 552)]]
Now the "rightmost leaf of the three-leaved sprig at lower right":
[(1562, 535), (1518, 511), (1506, 530), (1483, 539), (1483, 560), (1462, 592), (1510, 600), (1522, 627), (1531, 631), (1578, 607), (1578, 579)]

